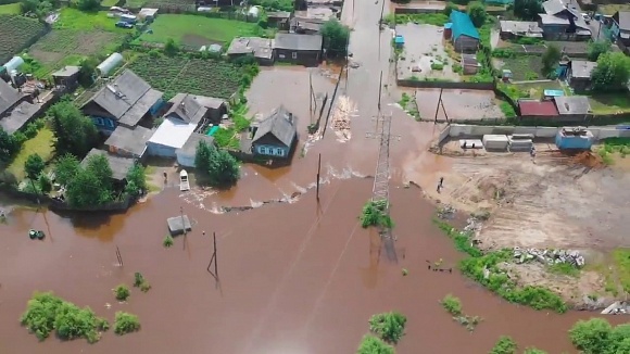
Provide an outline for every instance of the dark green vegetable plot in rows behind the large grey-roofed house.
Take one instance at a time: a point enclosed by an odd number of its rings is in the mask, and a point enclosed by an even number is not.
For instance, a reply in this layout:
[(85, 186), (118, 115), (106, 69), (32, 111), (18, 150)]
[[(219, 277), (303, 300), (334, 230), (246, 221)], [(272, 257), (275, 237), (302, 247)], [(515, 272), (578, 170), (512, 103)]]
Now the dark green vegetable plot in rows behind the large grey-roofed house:
[(229, 99), (238, 91), (243, 72), (227, 62), (144, 55), (129, 68), (171, 99), (179, 92)]

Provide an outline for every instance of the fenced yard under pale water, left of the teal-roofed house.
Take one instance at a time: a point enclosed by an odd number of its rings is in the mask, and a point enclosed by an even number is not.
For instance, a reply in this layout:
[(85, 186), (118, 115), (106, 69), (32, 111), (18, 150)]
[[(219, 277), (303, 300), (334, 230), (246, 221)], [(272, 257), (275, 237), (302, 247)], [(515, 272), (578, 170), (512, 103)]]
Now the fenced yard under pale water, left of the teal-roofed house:
[(457, 74), (459, 63), (450, 58), (445, 51), (441, 27), (416, 24), (398, 25), (396, 34), (405, 38), (405, 46), (396, 63), (398, 79), (414, 77), (420, 80), (461, 80)]

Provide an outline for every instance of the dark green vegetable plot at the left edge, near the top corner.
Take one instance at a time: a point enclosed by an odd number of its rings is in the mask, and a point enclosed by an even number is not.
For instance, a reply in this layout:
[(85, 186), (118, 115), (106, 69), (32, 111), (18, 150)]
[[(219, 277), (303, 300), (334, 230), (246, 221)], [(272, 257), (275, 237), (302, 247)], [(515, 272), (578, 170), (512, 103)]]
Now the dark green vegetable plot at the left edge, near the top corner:
[(37, 20), (0, 14), (0, 61), (5, 62), (28, 47), (42, 30), (43, 25)]

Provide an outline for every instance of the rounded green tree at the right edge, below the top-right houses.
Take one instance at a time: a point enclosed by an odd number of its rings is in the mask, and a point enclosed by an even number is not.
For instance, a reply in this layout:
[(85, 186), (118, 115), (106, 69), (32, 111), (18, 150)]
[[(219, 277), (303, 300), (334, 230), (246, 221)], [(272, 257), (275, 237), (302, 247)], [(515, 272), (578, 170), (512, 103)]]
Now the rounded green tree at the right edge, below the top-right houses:
[(600, 55), (597, 67), (591, 73), (593, 90), (627, 90), (630, 79), (630, 58), (622, 52), (608, 52)]

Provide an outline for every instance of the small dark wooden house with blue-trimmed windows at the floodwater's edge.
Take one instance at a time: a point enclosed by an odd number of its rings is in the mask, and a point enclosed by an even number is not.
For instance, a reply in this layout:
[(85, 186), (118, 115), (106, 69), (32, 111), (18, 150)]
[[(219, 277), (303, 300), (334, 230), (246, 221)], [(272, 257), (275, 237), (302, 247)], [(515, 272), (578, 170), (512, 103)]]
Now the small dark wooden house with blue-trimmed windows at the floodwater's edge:
[(252, 153), (254, 156), (288, 159), (298, 141), (295, 118), (282, 105), (274, 110), (253, 129)]

